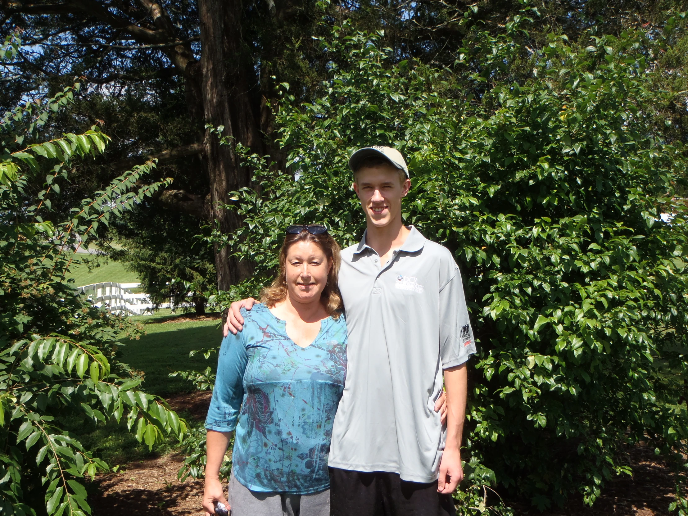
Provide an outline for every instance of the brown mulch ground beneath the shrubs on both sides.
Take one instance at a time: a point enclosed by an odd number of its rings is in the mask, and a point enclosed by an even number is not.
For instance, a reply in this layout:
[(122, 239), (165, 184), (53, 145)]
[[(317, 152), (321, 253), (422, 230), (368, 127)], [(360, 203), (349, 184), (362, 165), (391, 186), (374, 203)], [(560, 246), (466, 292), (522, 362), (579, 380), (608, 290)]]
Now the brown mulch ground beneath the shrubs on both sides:
[[(202, 420), (208, 410), (208, 392), (169, 398), (171, 407)], [(635, 447), (629, 451), (633, 476), (608, 482), (592, 508), (581, 499), (571, 499), (567, 508), (540, 513), (531, 507), (515, 506), (524, 516), (669, 516), (674, 499), (674, 482), (669, 466), (652, 449)], [(127, 464), (117, 473), (100, 475), (97, 492), (89, 497), (98, 516), (201, 516), (203, 482), (177, 480), (184, 457), (177, 454)]]

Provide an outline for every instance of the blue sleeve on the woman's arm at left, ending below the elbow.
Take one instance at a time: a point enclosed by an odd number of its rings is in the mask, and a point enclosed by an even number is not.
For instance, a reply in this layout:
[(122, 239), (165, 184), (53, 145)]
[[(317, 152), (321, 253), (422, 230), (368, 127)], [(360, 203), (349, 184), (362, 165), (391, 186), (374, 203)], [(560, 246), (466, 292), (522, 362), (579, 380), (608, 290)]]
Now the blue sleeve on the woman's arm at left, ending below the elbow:
[(244, 372), (248, 354), (243, 333), (228, 334), (222, 339), (217, 356), (217, 376), (213, 399), (206, 416), (206, 429), (230, 432), (237, 427), (241, 402), (244, 400)]

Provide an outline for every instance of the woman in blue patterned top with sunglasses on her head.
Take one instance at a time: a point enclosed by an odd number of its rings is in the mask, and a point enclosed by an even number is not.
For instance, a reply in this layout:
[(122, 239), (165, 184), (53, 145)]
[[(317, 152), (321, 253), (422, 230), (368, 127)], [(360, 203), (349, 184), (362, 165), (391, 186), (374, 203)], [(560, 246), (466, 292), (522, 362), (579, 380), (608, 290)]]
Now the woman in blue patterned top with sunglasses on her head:
[[(206, 418), (206, 515), (215, 501), (234, 516), (330, 514), (327, 454), (346, 376), (339, 246), (319, 224), (286, 233), (275, 281), (219, 350)], [(235, 429), (228, 504), (219, 469)]]

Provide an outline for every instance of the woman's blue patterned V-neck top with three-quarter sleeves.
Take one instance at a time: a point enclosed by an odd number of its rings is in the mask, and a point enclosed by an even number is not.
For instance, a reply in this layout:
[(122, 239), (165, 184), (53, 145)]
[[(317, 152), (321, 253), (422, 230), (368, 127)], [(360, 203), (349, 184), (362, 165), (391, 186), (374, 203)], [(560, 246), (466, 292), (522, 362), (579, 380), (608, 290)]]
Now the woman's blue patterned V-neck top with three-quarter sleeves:
[(266, 305), (241, 315), (244, 330), (219, 350), (206, 429), (236, 429), (233, 473), (251, 491), (322, 491), (346, 376), (344, 316), (323, 319), (315, 340), (300, 347)]

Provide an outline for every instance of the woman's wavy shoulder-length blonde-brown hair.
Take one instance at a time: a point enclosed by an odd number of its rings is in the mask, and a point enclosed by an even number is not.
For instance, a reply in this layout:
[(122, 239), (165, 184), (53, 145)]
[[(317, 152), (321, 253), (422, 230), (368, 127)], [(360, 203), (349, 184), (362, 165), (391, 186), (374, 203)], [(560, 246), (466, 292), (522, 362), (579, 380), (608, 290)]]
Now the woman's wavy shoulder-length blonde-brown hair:
[(339, 294), (338, 276), (341, 256), (339, 254), (339, 244), (329, 233), (312, 235), (305, 228), (301, 233), (289, 234), (284, 238), (282, 248), (279, 250), (279, 271), (277, 277), (272, 281), (272, 285), (264, 288), (260, 292), (260, 301), (272, 308), (275, 303), (284, 301), (287, 297), (287, 275), (286, 263), (289, 248), (297, 242), (307, 242), (316, 244), (325, 253), (325, 257), (332, 264), (330, 274), (327, 275), (327, 284), (320, 294), (320, 301), (327, 312), (327, 315), (338, 319), (342, 309), (342, 298)]

